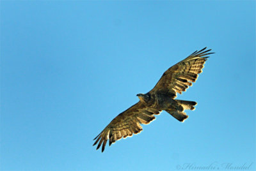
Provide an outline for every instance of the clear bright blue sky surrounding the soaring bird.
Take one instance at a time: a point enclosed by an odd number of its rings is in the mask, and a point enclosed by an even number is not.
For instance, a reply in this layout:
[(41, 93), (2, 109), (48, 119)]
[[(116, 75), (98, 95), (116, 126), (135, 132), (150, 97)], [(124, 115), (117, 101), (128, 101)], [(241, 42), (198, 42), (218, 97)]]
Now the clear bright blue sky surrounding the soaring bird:
[[(1, 1), (1, 170), (195, 170), (255, 163), (255, 1)], [(165, 70), (212, 48), (143, 131), (93, 138)], [(230, 163), (230, 167), (228, 167)]]

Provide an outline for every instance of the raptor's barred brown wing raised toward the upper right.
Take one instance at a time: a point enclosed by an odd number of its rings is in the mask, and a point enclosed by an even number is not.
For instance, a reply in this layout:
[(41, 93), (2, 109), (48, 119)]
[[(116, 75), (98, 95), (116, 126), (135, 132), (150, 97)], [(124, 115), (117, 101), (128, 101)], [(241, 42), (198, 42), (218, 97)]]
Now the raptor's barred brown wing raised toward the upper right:
[(150, 93), (165, 91), (173, 94), (173, 98), (175, 98), (177, 93), (181, 94), (182, 91), (186, 91), (188, 86), (191, 86), (192, 82), (196, 81), (198, 74), (202, 73), (204, 63), (209, 57), (207, 55), (214, 54), (214, 52), (209, 52), (211, 49), (205, 49), (206, 47), (198, 52), (196, 50), (186, 59), (165, 71)]

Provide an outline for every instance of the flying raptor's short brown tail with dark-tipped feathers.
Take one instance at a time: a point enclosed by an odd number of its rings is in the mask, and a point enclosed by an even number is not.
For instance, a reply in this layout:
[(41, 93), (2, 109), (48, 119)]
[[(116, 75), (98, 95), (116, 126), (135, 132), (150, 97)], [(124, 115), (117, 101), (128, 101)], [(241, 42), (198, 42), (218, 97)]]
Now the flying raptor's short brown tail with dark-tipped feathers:
[(184, 122), (188, 119), (188, 115), (186, 115), (184, 110), (195, 110), (195, 105), (197, 104), (195, 101), (186, 101), (186, 100), (175, 100), (177, 104), (170, 108), (170, 110), (165, 110), (170, 115), (175, 117), (180, 122)]

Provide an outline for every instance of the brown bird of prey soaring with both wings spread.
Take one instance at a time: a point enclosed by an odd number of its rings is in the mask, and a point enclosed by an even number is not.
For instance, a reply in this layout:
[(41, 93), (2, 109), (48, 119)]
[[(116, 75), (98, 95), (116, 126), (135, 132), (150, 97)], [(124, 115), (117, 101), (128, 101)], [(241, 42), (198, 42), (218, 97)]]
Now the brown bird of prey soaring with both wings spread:
[(202, 73), (204, 63), (207, 61), (211, 49), (207, 47), (195, 51), (186, 59), (173, 65), (163, 73), (155, 87), (146, 94), (137, 94), (140, 101), (117, 115), (104, 130), (93, 140), (93, 145), (99, 149), (102, 145), (102, 152), (109, 140), (109, 146), (120, 140), (122, 137), (131, 137), (133, 134), (142, 131), (141, 124), (149, 124), (156, 119), (154, 115), (165, 110), (180, 122), (188, 118), (184, 110), (194, 110), (196, 102), (186, 100), (175, 100), (177, 93), (182, 94), (192, 82), (196, 81), (199, 73)]

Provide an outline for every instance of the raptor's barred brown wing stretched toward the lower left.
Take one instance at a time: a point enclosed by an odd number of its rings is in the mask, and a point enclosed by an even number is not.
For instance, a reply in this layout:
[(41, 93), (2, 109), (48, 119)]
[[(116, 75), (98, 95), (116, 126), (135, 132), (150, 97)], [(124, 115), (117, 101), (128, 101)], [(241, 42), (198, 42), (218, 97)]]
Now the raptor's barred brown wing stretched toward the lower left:
[(154, 115), (159, 114), (159, 110), (154, 108), (148, 108), (141, 101), (128, 108), (121, 114), (115, 117), (111, 123), (93, 140), (98, 142), (97, 149), (102, 144), (102, 152), (105, 149), (106, 143), (109, 140), (109, 146), (115, 143), (116, 140), (120, 140), (122, 137), (131, 137), (133, 134), (140, 133), (142, 126), (140, 124), (149, 124), (156, 119)]

